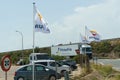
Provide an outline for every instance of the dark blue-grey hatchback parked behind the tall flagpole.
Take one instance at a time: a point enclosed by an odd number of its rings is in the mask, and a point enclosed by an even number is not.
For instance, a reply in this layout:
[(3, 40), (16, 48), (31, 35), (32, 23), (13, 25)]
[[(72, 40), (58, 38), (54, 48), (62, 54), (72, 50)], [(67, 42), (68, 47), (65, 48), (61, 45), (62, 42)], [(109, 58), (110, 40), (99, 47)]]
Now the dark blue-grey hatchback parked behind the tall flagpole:
[[(34, 70), (35, 80), (56, 80), (61, 78), (59, 73), (41, 64), (35, 64)], [(28, 64), (16, 70), (14, 80), (32, 80), (32, 76), (33, 65)]]

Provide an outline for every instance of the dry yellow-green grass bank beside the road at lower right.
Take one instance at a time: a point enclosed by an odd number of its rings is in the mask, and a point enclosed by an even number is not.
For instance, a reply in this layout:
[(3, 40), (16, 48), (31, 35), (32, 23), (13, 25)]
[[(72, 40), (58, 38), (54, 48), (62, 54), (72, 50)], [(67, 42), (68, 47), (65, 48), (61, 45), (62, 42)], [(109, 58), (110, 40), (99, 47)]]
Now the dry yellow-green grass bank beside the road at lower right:
[(82, 74), (70, 80), (120, 80), (120, 72), (112, 69), (111, 65), (91, 64), (90, 71), (86, 71), (87, 70), (83, 68)]

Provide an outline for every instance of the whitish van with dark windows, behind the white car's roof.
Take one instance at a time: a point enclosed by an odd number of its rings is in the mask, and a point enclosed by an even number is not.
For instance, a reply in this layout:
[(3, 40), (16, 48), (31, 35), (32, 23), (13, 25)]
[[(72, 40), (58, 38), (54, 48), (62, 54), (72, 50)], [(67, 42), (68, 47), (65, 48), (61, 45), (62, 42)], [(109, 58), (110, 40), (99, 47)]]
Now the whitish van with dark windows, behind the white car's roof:
[(32, 63), (32, 61), (37, 61), (37, 60), (48, 60), (48, 59), (52, 59), (48, 53), (31, 53), (29, 55), (29, 61), (30, 63)]

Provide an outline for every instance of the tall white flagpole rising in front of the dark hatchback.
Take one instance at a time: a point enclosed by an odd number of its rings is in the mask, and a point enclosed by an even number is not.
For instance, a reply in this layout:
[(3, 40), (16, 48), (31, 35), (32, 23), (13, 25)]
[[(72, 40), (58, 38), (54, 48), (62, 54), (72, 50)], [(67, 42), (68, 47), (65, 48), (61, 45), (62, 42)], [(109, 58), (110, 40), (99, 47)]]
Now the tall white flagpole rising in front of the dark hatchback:
[[(34, 54), (34, 48), (35, 48), (35, 29), (34, 29), (34, 26), (35, 26), (35, 2), (33, 2), (33, 54)], [(34, 74), (34, 56), (32, 57), (33, 59), (33, 71), (32, 71), (32, 79), (34, 80), (35, 78), (35, 74)]]

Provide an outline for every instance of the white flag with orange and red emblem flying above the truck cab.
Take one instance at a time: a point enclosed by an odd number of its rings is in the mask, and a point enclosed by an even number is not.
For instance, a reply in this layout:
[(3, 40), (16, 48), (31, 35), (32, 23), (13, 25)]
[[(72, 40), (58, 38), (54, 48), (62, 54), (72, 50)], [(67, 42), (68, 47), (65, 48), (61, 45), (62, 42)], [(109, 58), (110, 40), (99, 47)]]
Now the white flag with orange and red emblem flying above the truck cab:
[(99, 42), (101, 40), (100, 35), (95, 30), (89, 30), (86, 27), (86, 36), (88, 41), (97, 41)]

